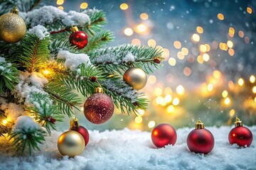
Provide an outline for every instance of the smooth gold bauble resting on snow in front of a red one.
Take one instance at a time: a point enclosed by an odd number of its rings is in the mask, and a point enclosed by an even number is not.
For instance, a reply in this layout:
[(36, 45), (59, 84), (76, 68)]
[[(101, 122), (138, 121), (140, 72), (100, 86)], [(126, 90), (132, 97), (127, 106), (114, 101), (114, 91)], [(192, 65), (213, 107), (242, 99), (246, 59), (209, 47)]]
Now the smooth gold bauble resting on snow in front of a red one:
[(85, 140), (79, 132), (70, 130), (60, 135), (58, 139), (58, 150), (60, 154), (75, 157), (82, 154), (85, 149)]

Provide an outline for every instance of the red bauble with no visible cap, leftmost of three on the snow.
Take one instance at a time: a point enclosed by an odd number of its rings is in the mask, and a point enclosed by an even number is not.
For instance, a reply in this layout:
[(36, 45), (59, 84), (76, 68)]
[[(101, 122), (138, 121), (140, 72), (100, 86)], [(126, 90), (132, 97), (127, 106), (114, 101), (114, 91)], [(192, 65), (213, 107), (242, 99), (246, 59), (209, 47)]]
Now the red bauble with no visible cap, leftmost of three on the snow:
[(156, 147), (174, 145), (177, 140), (176, 130), (171, 125), (162, 123), (152, 130), (151, 140)]

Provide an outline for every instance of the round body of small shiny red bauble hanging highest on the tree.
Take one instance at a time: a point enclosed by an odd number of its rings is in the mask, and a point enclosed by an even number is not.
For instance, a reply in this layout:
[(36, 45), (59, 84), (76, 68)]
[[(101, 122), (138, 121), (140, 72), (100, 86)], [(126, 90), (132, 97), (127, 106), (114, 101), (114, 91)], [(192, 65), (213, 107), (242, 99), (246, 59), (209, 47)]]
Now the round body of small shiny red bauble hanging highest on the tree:
[(88, 38), (85, 32), (76, 31), (70, 35), (70, 44), (75, 45), (78, 49), (84, 48), (88, 43)]

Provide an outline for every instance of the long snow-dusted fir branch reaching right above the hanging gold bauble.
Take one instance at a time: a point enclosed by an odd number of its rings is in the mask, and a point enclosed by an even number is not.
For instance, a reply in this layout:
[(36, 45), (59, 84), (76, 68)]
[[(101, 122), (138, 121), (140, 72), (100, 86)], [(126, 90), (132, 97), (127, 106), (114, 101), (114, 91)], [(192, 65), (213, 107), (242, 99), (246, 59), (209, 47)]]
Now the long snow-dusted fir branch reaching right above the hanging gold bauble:
[(119, 45), (107, 47), (100, 50), (93, 50), (87, 53), (92, 64), (102, 67), (105, 72), (120, 72), (129, 67), (139, 67), (149, 74), (151, 67), (158, 68), (159, 62), (164, 60), (161, 57), (161, 50), (154, 47), (139, 47), (137, 45)]

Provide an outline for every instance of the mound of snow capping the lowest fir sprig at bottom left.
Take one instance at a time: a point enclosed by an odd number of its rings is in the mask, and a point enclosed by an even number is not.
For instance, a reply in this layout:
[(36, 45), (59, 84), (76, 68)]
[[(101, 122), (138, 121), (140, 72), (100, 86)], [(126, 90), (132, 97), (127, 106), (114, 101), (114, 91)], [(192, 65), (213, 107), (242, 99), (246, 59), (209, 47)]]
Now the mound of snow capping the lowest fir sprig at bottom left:
[(24, 130), (28, 132), (29, 130), (38, 130), (41, 126), (36, 123), (33, 118), (29, 117), (28, 115), (21, 115), (17, 118), (13, 132), (18, 132), (20, 130)]

